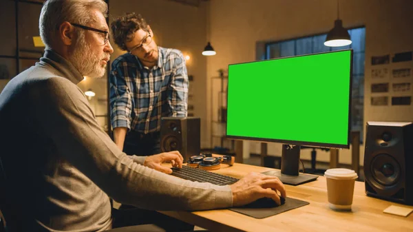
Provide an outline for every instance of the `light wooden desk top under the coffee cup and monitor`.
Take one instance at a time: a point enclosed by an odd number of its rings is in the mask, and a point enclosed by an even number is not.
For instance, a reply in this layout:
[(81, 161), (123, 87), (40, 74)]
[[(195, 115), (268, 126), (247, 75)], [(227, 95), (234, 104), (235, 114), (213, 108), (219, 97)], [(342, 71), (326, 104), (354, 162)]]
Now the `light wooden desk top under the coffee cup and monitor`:
[[(266, 167), (235, 163), (233, 167), (222, 167), (215, 172), (242, 178), (250, 171), (269, 170)], [(351, 212), (333, 211), (328, 207), (326, 179), (322, 176), (299, 186), (286, 185), (286, 190), (287, 196), (310, 204), (263, 219), (251, 218), (228, 209), (160, 212), (210, 231), (413, 231), (413, 213), (407, 217), (383, 213), (392, 204), (410, 209), (413, 207), (366, 196), (364, 182), (355, 184)]]

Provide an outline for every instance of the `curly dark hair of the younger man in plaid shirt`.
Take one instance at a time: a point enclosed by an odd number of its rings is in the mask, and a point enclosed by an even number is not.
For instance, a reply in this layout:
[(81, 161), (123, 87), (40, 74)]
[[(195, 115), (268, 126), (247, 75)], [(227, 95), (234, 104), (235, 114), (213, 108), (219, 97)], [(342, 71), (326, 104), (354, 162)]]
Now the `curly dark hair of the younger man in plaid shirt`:
[(110, 27), (116, 45), (122, 50), (127, 50), (125, 43), (134, 39), (134, 33), (137, 30), (142, 29), (149, 32), (145, 19), (140, 14), (135, 14), (135, 12), (118, 17), (110, 24)]

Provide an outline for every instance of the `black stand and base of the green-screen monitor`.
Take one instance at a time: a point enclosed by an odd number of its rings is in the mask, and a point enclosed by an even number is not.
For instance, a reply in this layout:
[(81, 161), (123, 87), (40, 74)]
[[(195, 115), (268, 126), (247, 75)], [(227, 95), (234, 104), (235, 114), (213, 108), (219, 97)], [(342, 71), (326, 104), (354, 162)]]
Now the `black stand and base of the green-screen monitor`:
[(299, 146), (282, 145), (281, 171), (266, 171), (263, 174), (277, 176), (281, 182), (290, 185), (299, 185), (313, 180), (318, 176), (299, 173)]

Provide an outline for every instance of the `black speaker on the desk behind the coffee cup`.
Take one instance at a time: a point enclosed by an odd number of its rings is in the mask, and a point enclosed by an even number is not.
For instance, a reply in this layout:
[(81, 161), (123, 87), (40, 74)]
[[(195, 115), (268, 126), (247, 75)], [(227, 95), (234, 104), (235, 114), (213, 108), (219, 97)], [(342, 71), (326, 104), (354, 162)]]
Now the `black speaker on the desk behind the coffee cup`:
[(368, 122), (366, 133), (366, 194), (413, 204), (413, 123)]

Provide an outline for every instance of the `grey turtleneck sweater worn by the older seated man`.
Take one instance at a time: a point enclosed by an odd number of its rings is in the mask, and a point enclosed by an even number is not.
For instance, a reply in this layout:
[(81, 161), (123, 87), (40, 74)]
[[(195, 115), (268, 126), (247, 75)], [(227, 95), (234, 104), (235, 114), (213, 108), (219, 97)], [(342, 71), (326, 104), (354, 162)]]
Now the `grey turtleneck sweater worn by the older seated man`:
[(180, 180), (120, 151), (76, 86), (82, 79), (46, 50), (1, 92), (6, 220), (14, 215), (21, 231), (103, 231), (112, 226), (109, 197), (151, 210), (232, 206), (229, 186)]

